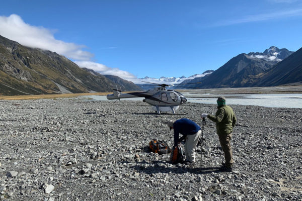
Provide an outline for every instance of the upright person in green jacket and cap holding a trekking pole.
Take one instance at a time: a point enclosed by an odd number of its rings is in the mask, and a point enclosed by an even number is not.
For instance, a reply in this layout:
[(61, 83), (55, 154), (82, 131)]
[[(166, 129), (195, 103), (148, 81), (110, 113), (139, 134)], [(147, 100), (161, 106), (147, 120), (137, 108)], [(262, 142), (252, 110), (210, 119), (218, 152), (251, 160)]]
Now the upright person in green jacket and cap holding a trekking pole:
[(225, 159), (225, 163), (222, 163), (221, 170), (232, 171), (234, 161), (231, 138), (237, 119), (233, 109), (230, 106), (225, 105), (225, 97), (218, 97), (217, 105), (218, 107), (215, 115), (202, 114), (201, 118), (207, 117), (209, 120), (216, 123), (216, 133), (218, 134)]

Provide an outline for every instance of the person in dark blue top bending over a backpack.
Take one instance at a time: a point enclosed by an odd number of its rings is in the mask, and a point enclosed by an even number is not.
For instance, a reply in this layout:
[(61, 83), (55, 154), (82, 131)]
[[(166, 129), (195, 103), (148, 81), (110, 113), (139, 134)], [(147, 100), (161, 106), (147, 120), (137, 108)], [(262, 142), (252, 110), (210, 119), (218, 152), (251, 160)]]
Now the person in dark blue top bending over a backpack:
[[(195, 149), (199, 140), (201, 133), (200, 126), (189, 119), (180, 119), (177, 121), (170, 120), (168, 122), (168, 127), (174, 129), (174, 146), (181, 143), (182, 140), (186, 139), (185, 143), (185, 154), (186, 154), (186, 164), (193, 165), (195, 160)], [(179, 134), (183, 136), (179, 138)]]

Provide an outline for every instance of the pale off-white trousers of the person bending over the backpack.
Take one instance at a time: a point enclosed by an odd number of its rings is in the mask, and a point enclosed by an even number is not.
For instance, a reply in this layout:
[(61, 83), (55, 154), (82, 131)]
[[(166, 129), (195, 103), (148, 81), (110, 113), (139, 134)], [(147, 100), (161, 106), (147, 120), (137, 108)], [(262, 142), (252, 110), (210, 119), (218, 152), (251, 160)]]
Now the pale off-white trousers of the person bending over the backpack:
[(185, 143), (186, 159), (190, 162), (195, 162), (195, 149), (199, 140), (201, 130), (193, 135), (187, 135)]

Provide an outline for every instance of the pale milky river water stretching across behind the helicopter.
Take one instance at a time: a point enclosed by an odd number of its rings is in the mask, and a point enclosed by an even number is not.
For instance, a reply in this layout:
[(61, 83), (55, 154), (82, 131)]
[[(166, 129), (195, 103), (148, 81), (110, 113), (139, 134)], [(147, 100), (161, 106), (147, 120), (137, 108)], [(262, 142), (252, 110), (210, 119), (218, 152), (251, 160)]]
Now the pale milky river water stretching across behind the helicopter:
[[(216, 104), (219, 94), (183, 93), (188, 102), (200, 104)], [(302, 94), (221, 94), (226, 98), (227, 105), (262, 106), (271, 108), (302, 108)], [(194, 96), (194, 97), (190, 97)], [(200, 96), (200, 97), (198, 97)], [(93, 100), (108, 100), (105, 95), (86, 95), (82, 97)], [(143, 100), (142, 97), (125, 98), (123, 100)], [(110, 100), (115, 101), (115, 100)]]

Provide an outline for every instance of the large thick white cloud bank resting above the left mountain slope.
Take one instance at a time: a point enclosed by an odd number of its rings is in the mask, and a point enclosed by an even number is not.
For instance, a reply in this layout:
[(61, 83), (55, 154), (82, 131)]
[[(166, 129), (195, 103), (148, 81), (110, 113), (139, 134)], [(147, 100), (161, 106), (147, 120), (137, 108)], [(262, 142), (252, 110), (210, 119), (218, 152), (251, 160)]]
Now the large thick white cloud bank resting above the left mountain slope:
[(0, 35), (24, 46), (50, 50), (70, 59), (90, 60), (94, 56), (83, 50), (84, 45), (56, 40), (50, 30), (26, 24), (15, 14), (0, 16), (0, 27)]

